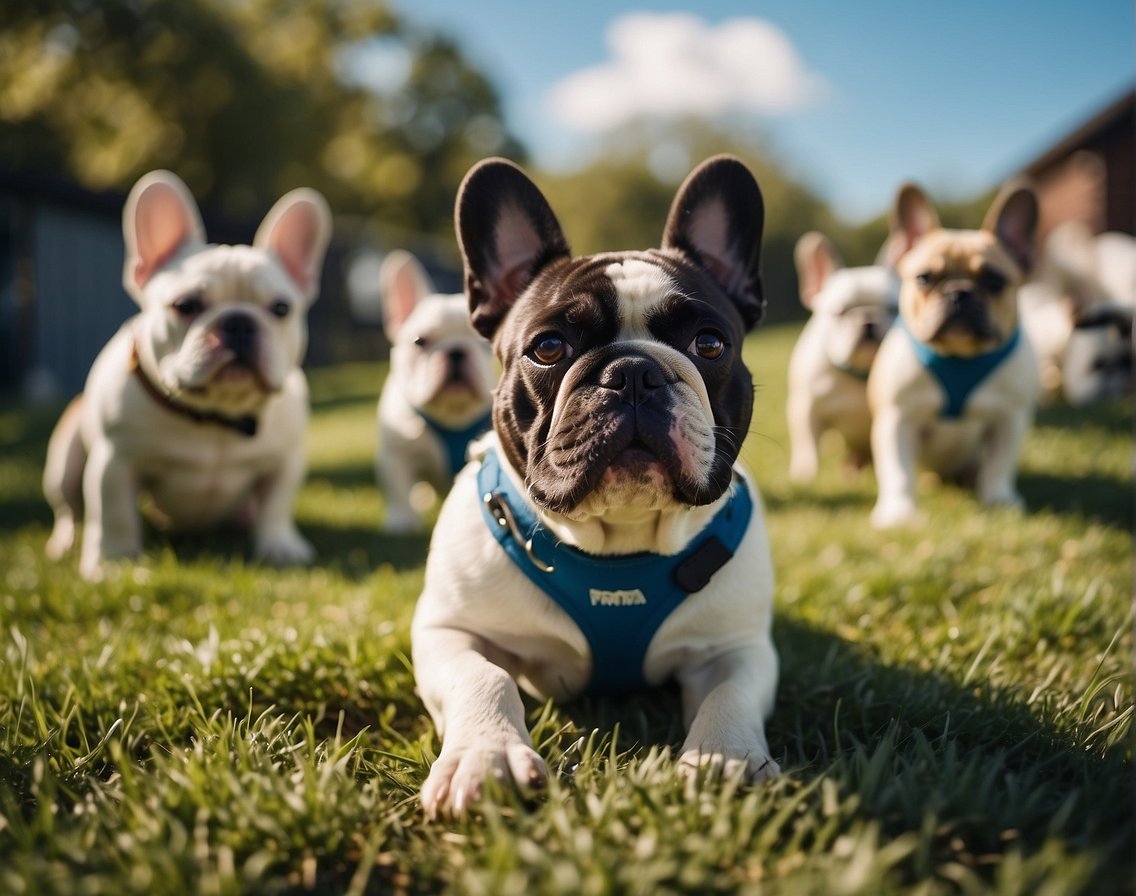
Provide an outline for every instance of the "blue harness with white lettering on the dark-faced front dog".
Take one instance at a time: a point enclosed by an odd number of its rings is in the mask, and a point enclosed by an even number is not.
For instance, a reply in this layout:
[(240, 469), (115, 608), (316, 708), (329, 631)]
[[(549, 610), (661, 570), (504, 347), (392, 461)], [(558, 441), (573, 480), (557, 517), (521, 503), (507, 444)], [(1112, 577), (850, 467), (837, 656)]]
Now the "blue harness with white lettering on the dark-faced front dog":
[(592, 651), (591, 694), (646, 686), (643, 662), (655, 631), (729, 561), (753, 513), (750, 489), (735, 477), (725, 506), (680, 553), (596, 556), (561, 544), (540, 525), (493, 449), (482, 461), (477, 486), (493, 537), (584, 633)]

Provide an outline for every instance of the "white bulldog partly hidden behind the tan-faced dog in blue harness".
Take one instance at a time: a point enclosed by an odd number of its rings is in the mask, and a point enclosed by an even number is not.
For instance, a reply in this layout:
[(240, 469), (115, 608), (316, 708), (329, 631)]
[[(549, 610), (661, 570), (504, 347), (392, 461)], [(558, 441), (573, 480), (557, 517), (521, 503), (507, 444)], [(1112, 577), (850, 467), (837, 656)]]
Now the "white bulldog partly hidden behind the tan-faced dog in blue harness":
[(844, 267), (816, 231), (797, 240), (793, 254), (801, 304), (812, 315), (788, 361), (790, 477), (809, 482), (827, 430), (841, 434), (857, 468), (871, 459), (868, 372), (895, 320), (900, 284), (882, 265)]

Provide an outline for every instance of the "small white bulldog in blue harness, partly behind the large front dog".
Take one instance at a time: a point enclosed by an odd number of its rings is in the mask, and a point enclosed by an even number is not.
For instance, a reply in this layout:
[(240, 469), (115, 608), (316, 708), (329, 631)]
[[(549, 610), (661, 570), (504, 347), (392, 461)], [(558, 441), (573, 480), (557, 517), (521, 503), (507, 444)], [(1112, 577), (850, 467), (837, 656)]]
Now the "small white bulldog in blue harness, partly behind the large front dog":
[(496, 371), (488, 342), (469, 323), (466, 296), (434, 290), (409, 252), (379, 271), (391, 369), (378, 400), (375, 471), (386, 497), (384, 528), (423, 528), (419, 483), (444, 495), (469, 443), (490, 428)]

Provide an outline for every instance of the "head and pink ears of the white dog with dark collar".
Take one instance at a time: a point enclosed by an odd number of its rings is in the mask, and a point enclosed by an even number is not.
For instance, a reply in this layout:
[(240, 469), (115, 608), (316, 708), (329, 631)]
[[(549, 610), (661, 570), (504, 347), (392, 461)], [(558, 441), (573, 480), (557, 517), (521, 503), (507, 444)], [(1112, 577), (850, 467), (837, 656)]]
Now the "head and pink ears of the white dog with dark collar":
[(331, 234), (323, 199), (293, 191), (253, 245), (207, 245), (189, 191), (159, 171), (131, 194), (124, 225), (124, 282), (142, 308), (134, 340), (147, 375), (194, 409), (259, 410), (307, 349)]

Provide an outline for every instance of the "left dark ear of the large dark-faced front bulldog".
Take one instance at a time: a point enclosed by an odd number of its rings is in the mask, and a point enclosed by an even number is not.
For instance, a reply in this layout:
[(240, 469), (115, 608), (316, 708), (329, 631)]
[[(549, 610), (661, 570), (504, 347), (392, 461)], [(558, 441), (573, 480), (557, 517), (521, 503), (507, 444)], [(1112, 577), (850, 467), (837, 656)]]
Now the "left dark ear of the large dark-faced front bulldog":
[(485, 159), (469, 169), (458, 187), (454, 231), (470, 320), (486, 338), (540, 270), (570, 254), (544, 195), (506, 159)]

